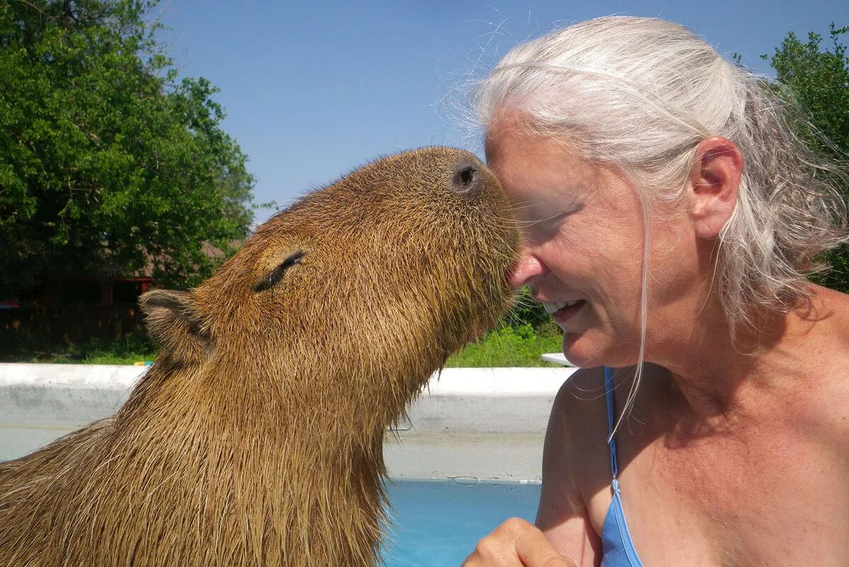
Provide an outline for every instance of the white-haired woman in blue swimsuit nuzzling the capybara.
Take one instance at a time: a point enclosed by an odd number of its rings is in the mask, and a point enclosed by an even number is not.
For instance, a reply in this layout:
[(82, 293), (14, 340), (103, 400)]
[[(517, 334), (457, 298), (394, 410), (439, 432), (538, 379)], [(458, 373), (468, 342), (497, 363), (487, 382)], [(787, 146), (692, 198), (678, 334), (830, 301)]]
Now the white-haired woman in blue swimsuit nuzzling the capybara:
[(849, 564), (849, 296), (805, 278), (846, 239), (837, 168), (661, 20), (520, 45), (476, 103), (526, 227), (513, 283), (585, 369), (554, 402), (537, 525), (464, 565)]

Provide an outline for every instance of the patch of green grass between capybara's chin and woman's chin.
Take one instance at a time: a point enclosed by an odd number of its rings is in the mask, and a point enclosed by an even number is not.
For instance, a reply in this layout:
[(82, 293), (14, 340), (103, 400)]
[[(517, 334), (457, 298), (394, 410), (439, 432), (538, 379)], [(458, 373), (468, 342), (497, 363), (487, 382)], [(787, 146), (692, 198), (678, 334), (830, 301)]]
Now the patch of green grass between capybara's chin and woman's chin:
[(563, 337), (554, 324), (534, 329), (529, 324), (503, 326), (448, 358), (446, 368), (557, 367), (544, 362), (543, 352), (559, 352)]

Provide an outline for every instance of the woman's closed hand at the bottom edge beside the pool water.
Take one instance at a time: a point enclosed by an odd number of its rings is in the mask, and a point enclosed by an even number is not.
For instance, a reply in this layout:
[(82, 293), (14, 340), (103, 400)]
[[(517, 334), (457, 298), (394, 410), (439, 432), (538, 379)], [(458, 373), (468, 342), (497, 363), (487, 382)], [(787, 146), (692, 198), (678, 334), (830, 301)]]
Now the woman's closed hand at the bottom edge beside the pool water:
[(478, 542), (462, 567), (575, 567), (537, 526), (511, 518)]

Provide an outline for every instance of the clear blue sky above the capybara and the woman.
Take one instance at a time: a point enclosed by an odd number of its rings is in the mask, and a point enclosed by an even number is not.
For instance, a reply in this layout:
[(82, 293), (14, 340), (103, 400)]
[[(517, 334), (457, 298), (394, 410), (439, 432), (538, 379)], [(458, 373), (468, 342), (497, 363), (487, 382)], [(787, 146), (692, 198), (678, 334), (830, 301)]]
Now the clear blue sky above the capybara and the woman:
[[(221, 89), (224, 129), (250, 158), (257, 202), (288, 205), (382, 154), (430, 144), (481, 153), (458, 126), (469, 76), (517, 42), (601, 15), (661, 17), (770, 73), (788, 31), (849, 25), (846, 0), (543, 2), (524, 0), (165, 0), (160, 39), (183, 76)], [(261, 222), (273, 210), (257, 212)]]

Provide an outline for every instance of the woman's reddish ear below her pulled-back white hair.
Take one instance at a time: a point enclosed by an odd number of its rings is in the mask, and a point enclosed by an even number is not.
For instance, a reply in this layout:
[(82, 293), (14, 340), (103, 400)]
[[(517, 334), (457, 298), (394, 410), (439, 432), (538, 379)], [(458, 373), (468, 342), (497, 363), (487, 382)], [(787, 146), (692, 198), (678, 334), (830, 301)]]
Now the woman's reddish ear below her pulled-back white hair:
[(743, 154), (728, 138), (702, 140), (689, 172), (690, 218), (696, 236), (715, 239), (737, 205)]

